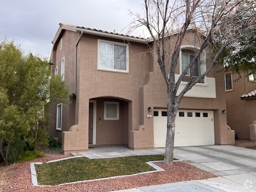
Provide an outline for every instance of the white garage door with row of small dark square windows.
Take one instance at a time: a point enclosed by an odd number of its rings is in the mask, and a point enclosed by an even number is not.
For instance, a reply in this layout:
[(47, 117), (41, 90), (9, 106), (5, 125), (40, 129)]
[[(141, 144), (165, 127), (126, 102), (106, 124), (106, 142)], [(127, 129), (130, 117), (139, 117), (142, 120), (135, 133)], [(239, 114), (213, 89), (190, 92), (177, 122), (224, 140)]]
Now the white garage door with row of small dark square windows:
[[(154, 109), (155, 147), (165, 147), (167, 111)], [(214, 142), (213, 111), (178, 110), (174, 146), (212, 145)]]

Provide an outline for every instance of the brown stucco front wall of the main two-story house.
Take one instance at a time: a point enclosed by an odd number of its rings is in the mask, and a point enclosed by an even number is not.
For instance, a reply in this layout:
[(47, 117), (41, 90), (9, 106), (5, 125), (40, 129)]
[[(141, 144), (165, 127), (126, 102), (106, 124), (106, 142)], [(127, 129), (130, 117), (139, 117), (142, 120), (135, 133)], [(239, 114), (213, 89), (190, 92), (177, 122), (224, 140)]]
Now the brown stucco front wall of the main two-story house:
[[(183, 45), (190, 45), (187, 39), (191, 33), (186, 35)], [(88, 149), (88, 112), (89, 100), (95, 98), (118, 98), (128, 102), (128, 144), (134, 150), (154, 148), (153, 110), (148, 107), (166, 108), (167, 95), (166, 85), (161, 75), (156, 55), (148, 53), (147, 45), (130, 42), (129, 44), (129, 73), (110, 72), (97, 70), (97, 41), (104, 39), (108, 41), (124, 42), (117, 39), (97, 37), (84, 34), (78, 44), (78, 84), (76, 94), (76, 126), (70, 128), (70, 132), (63, 132), (65, 142), (64, 150), (72, 151)], [(199, 44), (199, 41), (198, 41)], [(143, 54), (142, 54), (143, 53)], [(207, 58), (208, 59), (208, 58)], [(209, 65), (209, 62), (207, 62)], [(168, 67), (168, 66), (166, 66)], [(225, 109), (225, 92), (223, 72), (217, 73), (219, 68), (213, 69), (208, 77), (215, 78), (215, 98), (192, 98), (184, 97), (180, 109), (213, 110), (214, 129), (216, 144), (234, 144), (234, 131), (226, 125), (226, 115), (222, 113)], [(179, 74), (179, 65), (176, 73)], [(198, 92), (198, 96), (200, 96)], [(97, 102), (97, 115), (104, 113)], [(99, 107), (99, 109), (98, 109)], [(101, 112), (100, 112), (101, 111)], [(151, 118), (147, 118), (151, 114)], [(102, 114), (99, 114), (102, 115)], [(96, 144), (104, 140), (104, 131), (98, 131), (99, 117), (96, 120)], [(104, 126), (101, 127), (104, 129)], [(109, 126), (109, 131), (110, 126)], [(72, 133), (75, 132), (75, 133)], [(80, 134), (76, 133), (80, 132)], [(72, 135), (73, 134), (73, 135)], [(109, 133), (115, 134), (115, 133)], [(77, 135), (77, 137), (74, 137)], [(118, 133), (121, 135), (121, 132)], [(78, 143), (77, 140), (83, 142)], [(121, 140), (115, 138), (113, 142)], [(102, 144), (108, 144), (105, 140)], [(127, 141), (123, 141), (124, 144)], [(109, 143), (111, 144), (111, 143)]]

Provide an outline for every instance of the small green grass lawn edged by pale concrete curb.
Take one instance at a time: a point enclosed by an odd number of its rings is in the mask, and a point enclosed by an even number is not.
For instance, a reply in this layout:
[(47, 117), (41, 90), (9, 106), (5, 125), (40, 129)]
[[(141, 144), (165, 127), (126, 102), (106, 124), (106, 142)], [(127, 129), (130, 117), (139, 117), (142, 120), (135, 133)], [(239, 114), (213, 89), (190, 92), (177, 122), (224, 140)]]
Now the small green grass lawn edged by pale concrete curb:
[(155, 169), (145, 162), (163, 160), (163, 157), (163, 155), (141, 155), (107, 159), (78, 157), (36, 165), (35, 168), (39, 185), (58, 185), (74, 181), (153, 171)]

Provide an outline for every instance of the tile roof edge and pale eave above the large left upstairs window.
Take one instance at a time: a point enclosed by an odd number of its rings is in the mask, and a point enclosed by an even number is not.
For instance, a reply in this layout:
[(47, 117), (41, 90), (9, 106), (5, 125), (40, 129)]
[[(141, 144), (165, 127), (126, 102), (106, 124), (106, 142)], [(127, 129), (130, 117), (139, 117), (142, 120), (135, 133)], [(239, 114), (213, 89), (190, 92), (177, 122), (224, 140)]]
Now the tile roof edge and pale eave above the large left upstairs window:
[(54, 44), (54, 42), (56, 42), (56, 40), (59, 36), (59, 33), (63, 29), (64, 30), (70, 30), (70, 31), (77, 31), (77, 29), (84, 29), (84, 30), (97, 31), (97, 32), (101, 32), (101, 33), (108, 33), (108, 34), (118, 35), (118, 36), (123, 36), (123, 37), (131, 37), (131, 38), (135, 38), (135, 39), (146, 40), (143, 37), (136, 37), (136, 36), (132, 36), (132, 35), (124, 35), (124, 34), (121, 34), (121, 33), (113, 33), (113, 32), (104, 31), (104, 30), (97, 30), (97, 29), (94, 29), (94, 28), (87, 28), (87, 27), (76, 26), (76, 25), (72, 25), (72, 24), (59, 23), (59, 29), (58, 29), (57, 33), (55, 34), (54, 39), (52, 40), (52, 44)]

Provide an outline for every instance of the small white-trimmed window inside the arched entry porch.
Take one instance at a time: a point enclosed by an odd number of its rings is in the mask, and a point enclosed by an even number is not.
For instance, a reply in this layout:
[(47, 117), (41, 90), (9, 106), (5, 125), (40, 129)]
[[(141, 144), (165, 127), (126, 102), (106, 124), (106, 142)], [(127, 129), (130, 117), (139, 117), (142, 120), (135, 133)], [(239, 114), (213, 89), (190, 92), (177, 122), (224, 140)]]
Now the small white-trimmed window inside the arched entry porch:
[(104, 119), (119, 120), (119, 102), (104, 102)]

